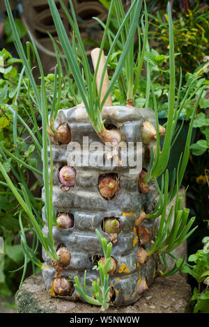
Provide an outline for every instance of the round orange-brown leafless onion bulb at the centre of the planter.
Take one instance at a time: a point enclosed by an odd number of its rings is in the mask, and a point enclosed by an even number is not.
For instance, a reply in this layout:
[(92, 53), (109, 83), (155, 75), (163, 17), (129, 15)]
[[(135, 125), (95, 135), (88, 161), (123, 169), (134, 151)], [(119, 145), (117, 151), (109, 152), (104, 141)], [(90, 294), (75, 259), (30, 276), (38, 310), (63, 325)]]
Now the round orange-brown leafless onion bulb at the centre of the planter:
[(101, 195), (105, 199), (109, 200), (115, 195), (116, 191), (118, 191), (119, 189), (118, 181), (111, 176), (101, 177), (98, 185), (98, 189)]

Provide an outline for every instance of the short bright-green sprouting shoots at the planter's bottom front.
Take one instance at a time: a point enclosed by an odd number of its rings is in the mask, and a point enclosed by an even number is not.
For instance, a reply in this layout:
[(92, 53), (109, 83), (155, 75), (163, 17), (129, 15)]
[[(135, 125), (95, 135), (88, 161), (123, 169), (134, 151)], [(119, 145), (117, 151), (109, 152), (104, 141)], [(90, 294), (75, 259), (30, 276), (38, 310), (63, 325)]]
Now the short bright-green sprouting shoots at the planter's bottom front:
[[(100, 278), (98, 280), (93, 280), (92, 290), (86, 287), (86, 271), (84, 273), (84, 283), (79, 282), (79, 278), (74, 276), (75, 289), (81, 294), (82, 298), (88, 303), (93, 305), (101, 305), (101, 310), (107, 310), (109, 308), (109, 291), (111, 286), (109, 286), (109, 274), (107, 273), (109, 267), (111, 266), (111, 247), (112, 244), (109, 242), (107, 244), (107, 239), (102, 237), (98, 230), (95, 230), (102, 250), (105, 257), (105, 264), (102, 261), (98, 262), (98, 267), (95, 266), (93, 269), (97, 269), (100, 272)], [(92, 296), (89, 296), (89, 292)]]

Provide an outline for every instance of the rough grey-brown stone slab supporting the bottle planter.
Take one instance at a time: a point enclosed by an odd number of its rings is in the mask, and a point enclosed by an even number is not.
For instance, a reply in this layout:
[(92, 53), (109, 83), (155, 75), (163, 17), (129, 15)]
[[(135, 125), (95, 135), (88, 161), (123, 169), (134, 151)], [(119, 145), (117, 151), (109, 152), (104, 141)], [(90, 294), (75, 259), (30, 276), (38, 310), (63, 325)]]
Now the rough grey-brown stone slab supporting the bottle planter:
[[(107, 313), (191, 313), (191, 288), (185, 278), (158, 277), (133, 305), (111, 306)], [(100, 307), (50, 296), (41, 274), (27, 278), (17, 294), (17, 313), (100, 313)]]

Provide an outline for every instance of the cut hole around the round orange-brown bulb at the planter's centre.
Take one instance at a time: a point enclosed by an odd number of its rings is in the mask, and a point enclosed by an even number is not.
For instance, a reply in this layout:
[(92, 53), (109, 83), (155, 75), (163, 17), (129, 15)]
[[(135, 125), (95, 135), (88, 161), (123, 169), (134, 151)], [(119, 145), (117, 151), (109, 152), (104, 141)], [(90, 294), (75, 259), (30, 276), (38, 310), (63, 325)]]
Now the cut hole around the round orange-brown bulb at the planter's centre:
[(106, 200), (111, 200), (119, 190), (119, 179), (116, 173), (100, 175), (98, 189), (101, 196)]

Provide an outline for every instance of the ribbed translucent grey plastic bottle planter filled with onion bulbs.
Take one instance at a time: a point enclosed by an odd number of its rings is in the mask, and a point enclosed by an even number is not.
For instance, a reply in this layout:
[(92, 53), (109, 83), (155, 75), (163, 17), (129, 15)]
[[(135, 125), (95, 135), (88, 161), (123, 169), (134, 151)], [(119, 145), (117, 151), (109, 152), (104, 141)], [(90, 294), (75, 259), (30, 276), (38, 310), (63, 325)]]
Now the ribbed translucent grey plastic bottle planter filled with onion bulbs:
[[(107, 125), (111, 124), (121, 129), (125, 143), (141, 141), (141, 127), (144, 121), (149, 121), (155, 125), (154, 113), (148, 108), (109, 106), (102, 109), (102, 116)], [(82, 145), (83, 136), (88, 136), (89, 144), (95, 141), (101, 142), (88, 120), (84, 106), (60, 110), (56, 117), (55, 126), (59, 127), (63, 122), (68, 122), (71, 142), (76, 141)], [(91, 280), (97, 280), (99, 273), (93, 270), (93, 266), (103, 255), (100, 242), (95, 234), (95, 228), (97, 228), (108, 241), (113, 240), (111, 256), (114, 257), (117, 265), (116, 271), (109, 274), (109, 282), (113, 287), (111, 302), (114, 305), (130, 305), (139, 299), (141, 292), (144, 292), (155, 276), (155, 258), (153, 256), (144, 257), (143, 255), (150, 250), (155, 238), (156, 221), (154, 219), (144, 220), (140, 225), (141, 232), (139, 234), (141, 234), (139, 237), (137, 237), (139, 228), (135, 226), (135, 221), (139, 218), (141, 209), (146, 212), (152, 211), (153, 202), (157, 196), (156, 186), (151, 182), (149, 184), (150, 191), (140, 193), (138, 189), (139, 173), (129, 174), (129, 166), (77, 166), (74, 167), (76, 170), (75, 186), (63, 191), (59, 181), (59, 170), (68, 164), (67, 146), (52, 144), (54, 208), (57, 216), (61, 213), (68, 213), (71, 217), (71, 228), (66, 225), (65, 228), (61, 228), (63, 223), (61, 222), (59, 228), (54, 226), (53, 229), (56, 248), (65, 246), (70, 253), (70, 260), (61, 271), (63, 280), (59, 280), (59, 282), (65, 284), (66, 280), (73, 280), (73, 276), (76, 275), (82, 282), (85, 270), (87, 271), (86, 285), (88, 287), (91, 287)], [(145, 169), (148, 168), (149, 164), (145, 155), (146, 149), (147, 145), (143, 145), (142, 166)], [(89, 155), (91, 155), (90, 151)], [(109, 176), (108, 174), (111, 174), (111, 177), (116, 177), (119, 186), (115, 195), (109, 200), (103, 198), (98, 189), (98, 181), (101, 176)], [(43, 200), (44, 196), (43, 190)], [(45, 220), (44, 209), (43, 218)], [(107, 218), (116, 218), (118, 222), (116, 237), (111, 238), (111, 234), (104, 231)], [(148, 231), (146, 234), (148, 237), (143, 238), (143, 230)], [(47, 225), (45, 225), (44, 232), (47, 234)], [(141, 254), (144, 257), (142, 262)], [(56, 290), (53, 286), (56, 269), (45, 251), (43, 251), (43, 259), (45, 264), (42, 269), (42, 276), (45, 280), (46, 289), (50, 294), (60, 296), (54, 292)], [(64, 286), (61, 288), (64, 289)], [(73, 285), (71, 286), (71, 292), (63, 292), (62, 297), (72, 301), (78, 298), (82, 300), (77, 291), (73, 289)]]

